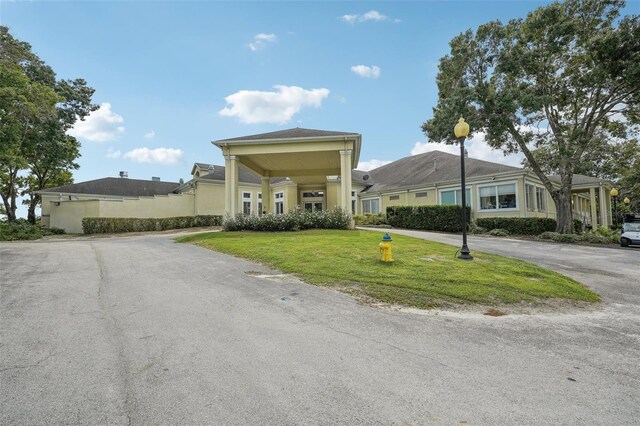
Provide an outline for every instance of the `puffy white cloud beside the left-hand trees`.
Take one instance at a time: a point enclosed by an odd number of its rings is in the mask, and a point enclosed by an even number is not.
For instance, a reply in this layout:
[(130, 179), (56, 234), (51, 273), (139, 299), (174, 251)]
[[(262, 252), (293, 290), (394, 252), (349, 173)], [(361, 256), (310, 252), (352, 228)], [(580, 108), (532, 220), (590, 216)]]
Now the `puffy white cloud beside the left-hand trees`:
[(111, 111), (111, 104), (104, 102), (99, 109), (85, 117), (84, 121), (76, 121), (67, 133), (91, 142), (107, 142), (124, 133), (124, 127), (121, 126), (123, 122), (121, 115)]

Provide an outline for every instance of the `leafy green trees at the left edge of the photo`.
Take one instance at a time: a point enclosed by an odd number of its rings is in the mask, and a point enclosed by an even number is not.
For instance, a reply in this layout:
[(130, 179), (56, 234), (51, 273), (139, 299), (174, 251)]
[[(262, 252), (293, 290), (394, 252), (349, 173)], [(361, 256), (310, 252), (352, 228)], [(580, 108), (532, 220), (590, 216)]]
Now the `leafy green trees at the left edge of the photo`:
[[(0, 195), (8, 220), (15, 220), (16, 196), (28, 195), (28, 219), (35, 223), (40, 197), (65, 171), (77, 169), (80, 143), (66, 134), (97, 105), (86, 81), (56, 80), (28, 43), (0, 26)], [(27, 172), (22, 176), (20, 172)]]

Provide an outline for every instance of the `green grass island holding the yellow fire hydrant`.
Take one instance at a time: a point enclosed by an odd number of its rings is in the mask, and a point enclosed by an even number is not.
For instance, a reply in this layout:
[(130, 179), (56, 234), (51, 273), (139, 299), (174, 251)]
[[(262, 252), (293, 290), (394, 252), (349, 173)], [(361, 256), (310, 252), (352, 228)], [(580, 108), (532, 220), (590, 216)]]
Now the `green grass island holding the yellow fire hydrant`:
[(419, 308), (600, 300), (578, 282), (520, 260), (474, 251), (475, 260), (464, 261), (455, 257), (455, 247), (400, 235), (392, 235), (394, 262), (383, 263), (381, 237), (370, 231), (310, 230), (214, 232), (177, 241), (251, 259), (310, 284)]

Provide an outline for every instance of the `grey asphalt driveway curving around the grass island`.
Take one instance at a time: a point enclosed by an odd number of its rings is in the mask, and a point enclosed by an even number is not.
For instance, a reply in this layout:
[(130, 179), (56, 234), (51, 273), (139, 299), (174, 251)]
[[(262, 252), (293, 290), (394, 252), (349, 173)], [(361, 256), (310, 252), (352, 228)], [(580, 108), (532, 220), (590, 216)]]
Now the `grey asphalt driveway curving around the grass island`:
[(640, 251), (540, 247), (603, 306), (405, 312), (167, 235), (2, 243), (0, 424), (637, 424)]

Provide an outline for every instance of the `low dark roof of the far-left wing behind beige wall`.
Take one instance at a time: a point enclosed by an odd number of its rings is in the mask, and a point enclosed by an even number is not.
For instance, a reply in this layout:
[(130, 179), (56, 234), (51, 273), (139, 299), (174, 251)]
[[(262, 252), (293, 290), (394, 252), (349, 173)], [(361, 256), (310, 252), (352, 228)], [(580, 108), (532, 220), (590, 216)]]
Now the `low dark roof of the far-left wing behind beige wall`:
[(171, 194), (178, 188), (178, 185), (178, 182), (160, 182), (108, 177), (90, 180), (87, 182), (74, 183), (71, 185), (58, 186), (55, 188), (47, 188), (38, 192), (148, 197), (153, 195)]

